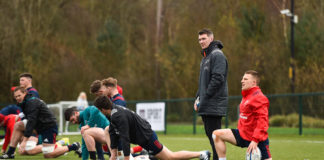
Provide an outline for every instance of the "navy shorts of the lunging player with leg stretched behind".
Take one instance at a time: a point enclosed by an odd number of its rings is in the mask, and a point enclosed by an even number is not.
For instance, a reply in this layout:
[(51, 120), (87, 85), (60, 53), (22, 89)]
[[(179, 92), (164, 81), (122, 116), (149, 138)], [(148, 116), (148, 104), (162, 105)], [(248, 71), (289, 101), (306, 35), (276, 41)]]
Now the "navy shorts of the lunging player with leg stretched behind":
[(163, 145), (159, 142), (155, 132), (153, 132), (152, 137), (145, 145), (140, 146), (146, 149), (150, 155), (156, 155), (160, 153), (163, 149)]

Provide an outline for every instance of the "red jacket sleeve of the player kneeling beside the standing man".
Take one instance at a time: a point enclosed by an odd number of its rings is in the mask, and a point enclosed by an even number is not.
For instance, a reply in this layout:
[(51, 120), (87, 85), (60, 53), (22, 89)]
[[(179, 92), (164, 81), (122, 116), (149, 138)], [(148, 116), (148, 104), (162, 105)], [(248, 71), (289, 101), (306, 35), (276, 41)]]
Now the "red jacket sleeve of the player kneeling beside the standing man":
[(268, 138), (269, 128), (269, 100), (264, 95), (255, 98), (253, 105), (255, 106), (256, 128), (254, 129), (252, 140), (255, 142), (264, 141)]

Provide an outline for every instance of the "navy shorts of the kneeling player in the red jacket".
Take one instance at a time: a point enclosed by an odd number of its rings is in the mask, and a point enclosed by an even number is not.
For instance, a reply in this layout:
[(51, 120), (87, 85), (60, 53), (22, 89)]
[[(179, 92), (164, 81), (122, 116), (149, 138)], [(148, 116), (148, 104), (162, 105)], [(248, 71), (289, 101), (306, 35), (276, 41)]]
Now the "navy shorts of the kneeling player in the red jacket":
[[(251, 141), (247, 141), (240, 136), (240, 132), (238, 129), (232, 129), (234, 137), (236, 139), (236, 145), (242, 148), (248, 147)], [(262, 158), (261, 159), (268, 159), (271, 158), (270, 150), (269, 150), (269, 138), (265, 141), (261, 141), (258, 143), (258, 147), (261, 151)]]

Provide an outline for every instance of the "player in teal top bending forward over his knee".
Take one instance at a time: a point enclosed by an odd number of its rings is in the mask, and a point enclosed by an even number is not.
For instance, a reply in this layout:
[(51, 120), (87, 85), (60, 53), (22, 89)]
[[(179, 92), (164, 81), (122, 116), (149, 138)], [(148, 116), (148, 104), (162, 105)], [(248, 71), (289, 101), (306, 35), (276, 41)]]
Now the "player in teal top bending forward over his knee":
[[(107, 118), (94, 106), (89, 106), (83, 111), (75, 107), (64, 112), (65, 120), (73, 124), (80, 124), (82, 134), (82, 159), (104, 159), (102, 144), (110, 143), (110, 138), (105, 136), (104, 129), (109, 126)], [(108, 127), (109, 128), (109, 127)], [(108, 140), (107, 140), (108, 139)]]

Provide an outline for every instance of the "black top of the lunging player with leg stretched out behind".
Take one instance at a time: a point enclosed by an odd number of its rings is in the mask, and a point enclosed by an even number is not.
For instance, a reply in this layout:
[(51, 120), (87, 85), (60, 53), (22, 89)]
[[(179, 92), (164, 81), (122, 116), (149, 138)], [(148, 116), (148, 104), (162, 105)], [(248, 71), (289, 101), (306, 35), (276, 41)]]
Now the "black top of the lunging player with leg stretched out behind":
[(116, 149), (120, 140), (125, 156), (130, 154), (130, 143), (144, 145), (153, 135), (151, 125), (125, 107), (113, 104), (109, 120), (111, 148)]

